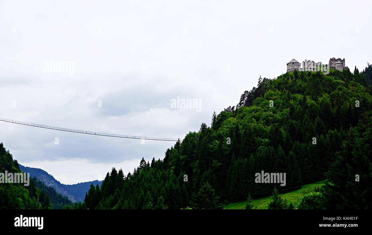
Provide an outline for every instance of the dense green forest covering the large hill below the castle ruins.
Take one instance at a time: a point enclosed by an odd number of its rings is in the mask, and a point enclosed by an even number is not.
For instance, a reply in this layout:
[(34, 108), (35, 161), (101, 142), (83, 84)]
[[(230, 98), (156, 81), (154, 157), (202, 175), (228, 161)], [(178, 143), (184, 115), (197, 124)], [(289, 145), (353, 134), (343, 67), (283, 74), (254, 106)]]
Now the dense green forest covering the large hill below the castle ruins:
[[(217, 209), (247, 198), (251, 208), (251, 198), (273, 193), (270, 209), (292, 209), (278, 193), (324, 179), (296, 208), (371, 208), (371, 70), (260, 77), (237, 106), (214, 113), (163, 160), (142, 158), (126, 176), (112, 168), (78, 208)], [(262, 170), (286, 173), (286, 185), (255, 183)]]

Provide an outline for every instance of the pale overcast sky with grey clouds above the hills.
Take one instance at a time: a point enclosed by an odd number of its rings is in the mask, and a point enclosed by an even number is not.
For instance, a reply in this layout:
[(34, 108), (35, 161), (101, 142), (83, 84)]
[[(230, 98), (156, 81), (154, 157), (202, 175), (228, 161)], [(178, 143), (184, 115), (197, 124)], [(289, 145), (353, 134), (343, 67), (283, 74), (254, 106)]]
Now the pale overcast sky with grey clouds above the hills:
[[(292, 58), (345, 58), (363, 70), (372, 63), (371, 12), (370, 0), (0, 0), (0, 117), (182, 139), (236, 105), (260, 75), (285, 73)], [(70, 69), (48, 69), (65, 61)], [(201, 99), (200, 112), (171, 109), (177, 96)], [(112, 167), (132, 172), (174, 144), (6, 122), (0, 142), (65, 184)]]

